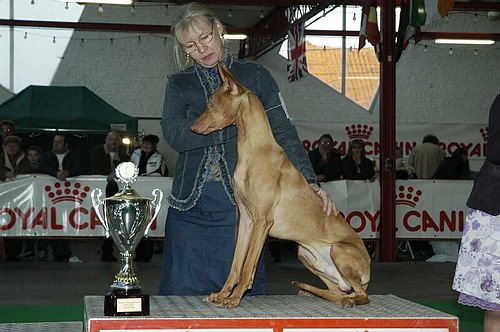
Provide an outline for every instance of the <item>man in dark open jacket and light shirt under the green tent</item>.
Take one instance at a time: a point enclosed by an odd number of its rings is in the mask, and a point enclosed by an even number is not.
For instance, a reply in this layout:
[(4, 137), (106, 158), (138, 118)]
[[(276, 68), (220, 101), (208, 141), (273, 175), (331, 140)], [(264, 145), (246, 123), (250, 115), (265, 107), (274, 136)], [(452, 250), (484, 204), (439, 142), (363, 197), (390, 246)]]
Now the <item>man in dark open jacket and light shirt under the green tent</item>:
[[(48, 174), (59, 180), (82, 174), (83, 164), (80, 154), (69, 148), (68, 137), (56, 134), (52, 140), (52, 150), (40, 159), (40, 174)], [(51, 240), (54, 262), (68, 262), (72, 255), (68, 240)]]

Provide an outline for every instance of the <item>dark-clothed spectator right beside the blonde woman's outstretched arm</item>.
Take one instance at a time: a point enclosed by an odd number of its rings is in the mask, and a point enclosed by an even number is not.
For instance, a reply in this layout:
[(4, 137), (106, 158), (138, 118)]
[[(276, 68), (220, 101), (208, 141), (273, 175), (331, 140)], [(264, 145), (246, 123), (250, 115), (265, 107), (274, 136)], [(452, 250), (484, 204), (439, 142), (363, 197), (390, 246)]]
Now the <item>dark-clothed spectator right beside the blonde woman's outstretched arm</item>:
[(318, 147), (309, 152), (309, 159), (319, 182), (338, 180), (342, 177), (342, 163), (339, 150), (333, 147), (333, 138), (323, 134)]

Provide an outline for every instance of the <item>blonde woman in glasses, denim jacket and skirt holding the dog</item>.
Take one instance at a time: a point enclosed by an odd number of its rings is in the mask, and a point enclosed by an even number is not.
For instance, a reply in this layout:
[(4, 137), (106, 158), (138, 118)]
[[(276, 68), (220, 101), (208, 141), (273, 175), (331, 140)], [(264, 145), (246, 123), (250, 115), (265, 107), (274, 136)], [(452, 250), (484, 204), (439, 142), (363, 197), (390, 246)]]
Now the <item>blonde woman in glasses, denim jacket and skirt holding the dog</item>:
[[(260, 98), (276, 141), (323, 198), (325, 211), (335, 207), (316, 184), (314, 170), (271, 74), (259, 64), (232, 57), (224, 47), (224, 26), (204, 5), (180, 6), (172, 33), (177, 64), (183, 69), (168, 78), (161, 121), (166, 141), (179, 156), (168, 198), (160, 294), (208, 295), (220, 291), (229, 274), (238, 223), (232, 187), (236, 127), (209, 135), (190, 130), (221, 85), (217, 64), (228, 66)], [(251, 293), (267, 293), (263, 255)]]

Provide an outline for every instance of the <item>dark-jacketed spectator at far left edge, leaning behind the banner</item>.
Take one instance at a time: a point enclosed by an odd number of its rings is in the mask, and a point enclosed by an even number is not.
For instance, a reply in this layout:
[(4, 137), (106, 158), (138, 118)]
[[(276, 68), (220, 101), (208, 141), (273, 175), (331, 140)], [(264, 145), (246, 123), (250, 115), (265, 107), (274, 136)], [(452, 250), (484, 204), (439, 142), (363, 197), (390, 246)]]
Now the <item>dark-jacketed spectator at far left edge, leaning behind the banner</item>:
[(0, 165), (0, 180), (15, 178), (18, 174), (29, 174), (33, 170), (26, 154), (22, 151), (23, 141), (18, 136), (4, 140), (5, 155)]

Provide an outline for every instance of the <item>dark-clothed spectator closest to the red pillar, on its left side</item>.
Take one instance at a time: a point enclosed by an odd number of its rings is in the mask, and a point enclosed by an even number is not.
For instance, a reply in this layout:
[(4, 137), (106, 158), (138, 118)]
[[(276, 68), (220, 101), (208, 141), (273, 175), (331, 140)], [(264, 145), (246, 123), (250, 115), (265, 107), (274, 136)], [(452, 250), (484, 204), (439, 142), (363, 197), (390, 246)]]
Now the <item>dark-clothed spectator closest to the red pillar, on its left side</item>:
[(354, 139), (342, 159), (342, 177), (346, 180), (372, 180), (375, 177), (373, 161), (366, 158), (365, 142)]

